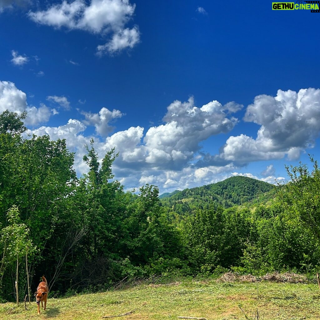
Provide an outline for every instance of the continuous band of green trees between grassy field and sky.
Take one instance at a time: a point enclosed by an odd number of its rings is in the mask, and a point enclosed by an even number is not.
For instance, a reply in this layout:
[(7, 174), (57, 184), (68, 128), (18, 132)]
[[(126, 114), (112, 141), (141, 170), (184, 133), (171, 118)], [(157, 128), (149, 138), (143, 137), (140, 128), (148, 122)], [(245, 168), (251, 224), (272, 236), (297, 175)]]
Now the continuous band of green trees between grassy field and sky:
[[(302, 164), (287, 168), (292, 182), (267, 205), (225, 208), (208, 199), (181, 218), (155, 186), (124, 192), (112, 174), (115, 149), (99, 163), (90, 141), (83, 159), (90, 170), (78, 179), (65, 140), (24, 138), (25, 116), (0, 115), (1, 301), (15, 300), (17, 278), (23, 298), (27, 273), (32, 292), (45, 274), (49, 291), (63, 294), (155, 274), (303, 271), (318, 264), (320, 176), (312, 158), (311, 173)], [(250, 186), (235, 188), (250, 197)]]

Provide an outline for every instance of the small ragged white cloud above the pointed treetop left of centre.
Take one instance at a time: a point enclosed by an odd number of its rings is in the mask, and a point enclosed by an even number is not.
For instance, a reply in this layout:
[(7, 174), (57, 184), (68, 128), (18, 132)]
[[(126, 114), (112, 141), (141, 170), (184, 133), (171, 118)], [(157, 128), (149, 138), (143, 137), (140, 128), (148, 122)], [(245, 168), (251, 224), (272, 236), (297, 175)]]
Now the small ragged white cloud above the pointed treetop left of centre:
[(121, 118), (123, 113), (119, 110), (113, 109), (112, 111), (108, 110), (107, 108), (101, 108), (99, 113), (91, 113), (91, 112), (80, 112), (84, 115), (85, 120), (84, 124), (92, 125), (95, 127), (96, 132), (101, 136), (107, 136), (114, 127), (109, 125), (109, 122), (112, 119)]

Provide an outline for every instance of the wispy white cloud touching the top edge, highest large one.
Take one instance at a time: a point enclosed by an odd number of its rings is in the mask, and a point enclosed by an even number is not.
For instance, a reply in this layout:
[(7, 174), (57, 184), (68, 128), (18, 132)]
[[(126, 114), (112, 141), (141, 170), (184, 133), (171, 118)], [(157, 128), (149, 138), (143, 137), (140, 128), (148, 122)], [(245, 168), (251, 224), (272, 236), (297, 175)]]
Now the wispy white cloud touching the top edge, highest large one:
[(55, 28), (81, 29), (93, 34), (111, 34), (111, 40), (99, 45), (98, 53), (114, 53), (125, 48), (132, 48), (139, 42), (140, 32), (137, 27), (125, 28), (132, 19), (135, 4), (129, 0), (84, 0), (70, 3), (52, 4), (47, 10), (29, 12), (31, 20)]

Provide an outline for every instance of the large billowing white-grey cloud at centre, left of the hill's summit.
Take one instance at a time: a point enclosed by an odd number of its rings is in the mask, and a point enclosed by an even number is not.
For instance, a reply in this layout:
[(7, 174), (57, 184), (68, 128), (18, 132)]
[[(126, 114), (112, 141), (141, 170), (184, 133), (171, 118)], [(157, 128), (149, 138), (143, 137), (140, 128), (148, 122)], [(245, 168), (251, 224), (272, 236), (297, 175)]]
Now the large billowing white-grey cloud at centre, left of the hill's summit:
[(167, 108), (165, 124), (151, 127), (144, 137), (146, 161), (158, 167), (180, 167), (200, 149), (199, 143), (212, 135), (233, 129), (238, 120), (228, 117), (220, 102), (213, 100), (198, 108), (193, 97), (173, 101)]

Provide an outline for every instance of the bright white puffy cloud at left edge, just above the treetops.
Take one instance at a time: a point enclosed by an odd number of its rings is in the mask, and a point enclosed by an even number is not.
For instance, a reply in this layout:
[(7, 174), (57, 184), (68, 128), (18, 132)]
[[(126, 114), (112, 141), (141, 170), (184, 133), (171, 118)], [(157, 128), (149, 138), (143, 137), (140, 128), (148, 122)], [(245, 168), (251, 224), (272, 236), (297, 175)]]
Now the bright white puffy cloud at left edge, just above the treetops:
[(41, 104), (39, 108), (28, 106), (27, 95), (19, 90), (14, 83), (9, 81), (0, 81), (0, 113), (8, 109), (11, 112), (21, 114), (27, 111), (26, 125), (37, 125), (47, 122), (53, 111), (46, 105)]

